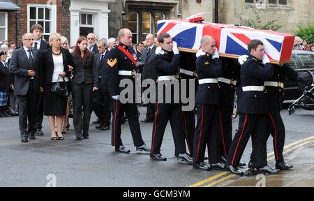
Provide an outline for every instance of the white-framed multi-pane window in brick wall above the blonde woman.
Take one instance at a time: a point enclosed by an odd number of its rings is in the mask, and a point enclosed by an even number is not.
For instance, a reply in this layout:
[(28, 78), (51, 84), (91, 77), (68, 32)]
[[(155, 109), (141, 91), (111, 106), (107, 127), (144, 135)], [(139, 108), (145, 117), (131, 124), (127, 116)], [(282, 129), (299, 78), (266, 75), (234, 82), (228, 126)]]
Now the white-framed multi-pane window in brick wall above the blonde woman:
[(50, 34), (56, 32), (56, 5), (28, 4), (27, 8), (27, 27), (29, 32), (31, 32), (33, 24), (40, 24), (43, 27), (43, 38), (49, 40)]

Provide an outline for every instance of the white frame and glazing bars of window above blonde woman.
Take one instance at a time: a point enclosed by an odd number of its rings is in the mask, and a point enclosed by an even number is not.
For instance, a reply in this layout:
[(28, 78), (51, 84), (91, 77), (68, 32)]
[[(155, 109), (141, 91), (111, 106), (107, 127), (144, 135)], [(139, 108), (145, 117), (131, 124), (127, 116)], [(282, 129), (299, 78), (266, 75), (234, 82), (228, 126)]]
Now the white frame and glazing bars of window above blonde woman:
[[(36, 20), (30, 19), (31, 15), (31, 8), (36, 7)], [(44, 8), (44, 19), (38, 19), (38, 8)], [(51, 19), (45, 20), (45, 8), (50, 9)], [(47, 5), (47, 4), (40, 4), (40, 3), (28, 3), (27, 4), (27, 30), (29, 33), (31, 33), (31, 25), (30, 22), (36, 22), (38, 24), (38, 21), (44, 22), (43, 27), (43, 37), (44, 36), (50, 36), (52, 33), (57, 32), (57, 5)], [(46, 33), (45, 31), (45, 22), (50, 22), (50, 33)]]

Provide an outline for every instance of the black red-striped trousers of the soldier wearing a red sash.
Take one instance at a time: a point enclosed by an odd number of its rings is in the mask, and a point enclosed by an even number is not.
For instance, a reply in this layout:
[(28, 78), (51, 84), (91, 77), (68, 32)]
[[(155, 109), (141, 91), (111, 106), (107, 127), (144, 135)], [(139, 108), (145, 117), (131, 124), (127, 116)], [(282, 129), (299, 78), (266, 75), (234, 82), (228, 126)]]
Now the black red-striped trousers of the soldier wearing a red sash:
[(128, 118), (128, 125), (130, 126), (131, 135), (133, 138), (134, 146), (142, 146), (144, 140), (140, 130), (140, 123), (138, 122), (138, 112), (135, 103), (122, 104), (120, 101), (113, 101), (113, 117), (112, 117), (112, 137), (111, 145), (119, 147), (123, 145), (121, 140), (121, 121), (126, 112), (126, 118)]

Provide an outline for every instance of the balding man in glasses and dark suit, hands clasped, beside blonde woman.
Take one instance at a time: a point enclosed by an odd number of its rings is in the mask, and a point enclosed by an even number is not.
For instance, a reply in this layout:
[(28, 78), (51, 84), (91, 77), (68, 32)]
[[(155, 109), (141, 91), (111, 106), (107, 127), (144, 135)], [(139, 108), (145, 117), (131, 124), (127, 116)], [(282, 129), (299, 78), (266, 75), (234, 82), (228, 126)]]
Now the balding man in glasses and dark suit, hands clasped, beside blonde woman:
[[(10, 73), (15, 75), (15, 95), (19, 101), (19, 124), (22, 142), (34, 140), (36, 128), (34, 120), (37, 112), (38, 96), (43, 91), (40, 82), (42, 52), (33, 46), (33, 36), (24, 34), (23, 47), (13, 52)], [(27, 117), (29, 119), (27, 127)]]

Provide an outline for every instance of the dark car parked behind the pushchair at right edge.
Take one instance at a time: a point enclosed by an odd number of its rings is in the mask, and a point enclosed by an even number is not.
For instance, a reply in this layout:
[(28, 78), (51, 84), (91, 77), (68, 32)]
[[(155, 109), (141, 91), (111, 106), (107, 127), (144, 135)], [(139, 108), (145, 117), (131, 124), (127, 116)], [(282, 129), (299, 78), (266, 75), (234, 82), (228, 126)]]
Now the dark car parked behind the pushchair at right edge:
[[(297, 72), (306, 72), (311, 70), (314, 73), (314, 52), (304, 50), (292, 50), (290, 66)], [(285, 80), (284, 101), (296, 100), (302, 95), (302, 91), (297, 87), (297, 82)]]

